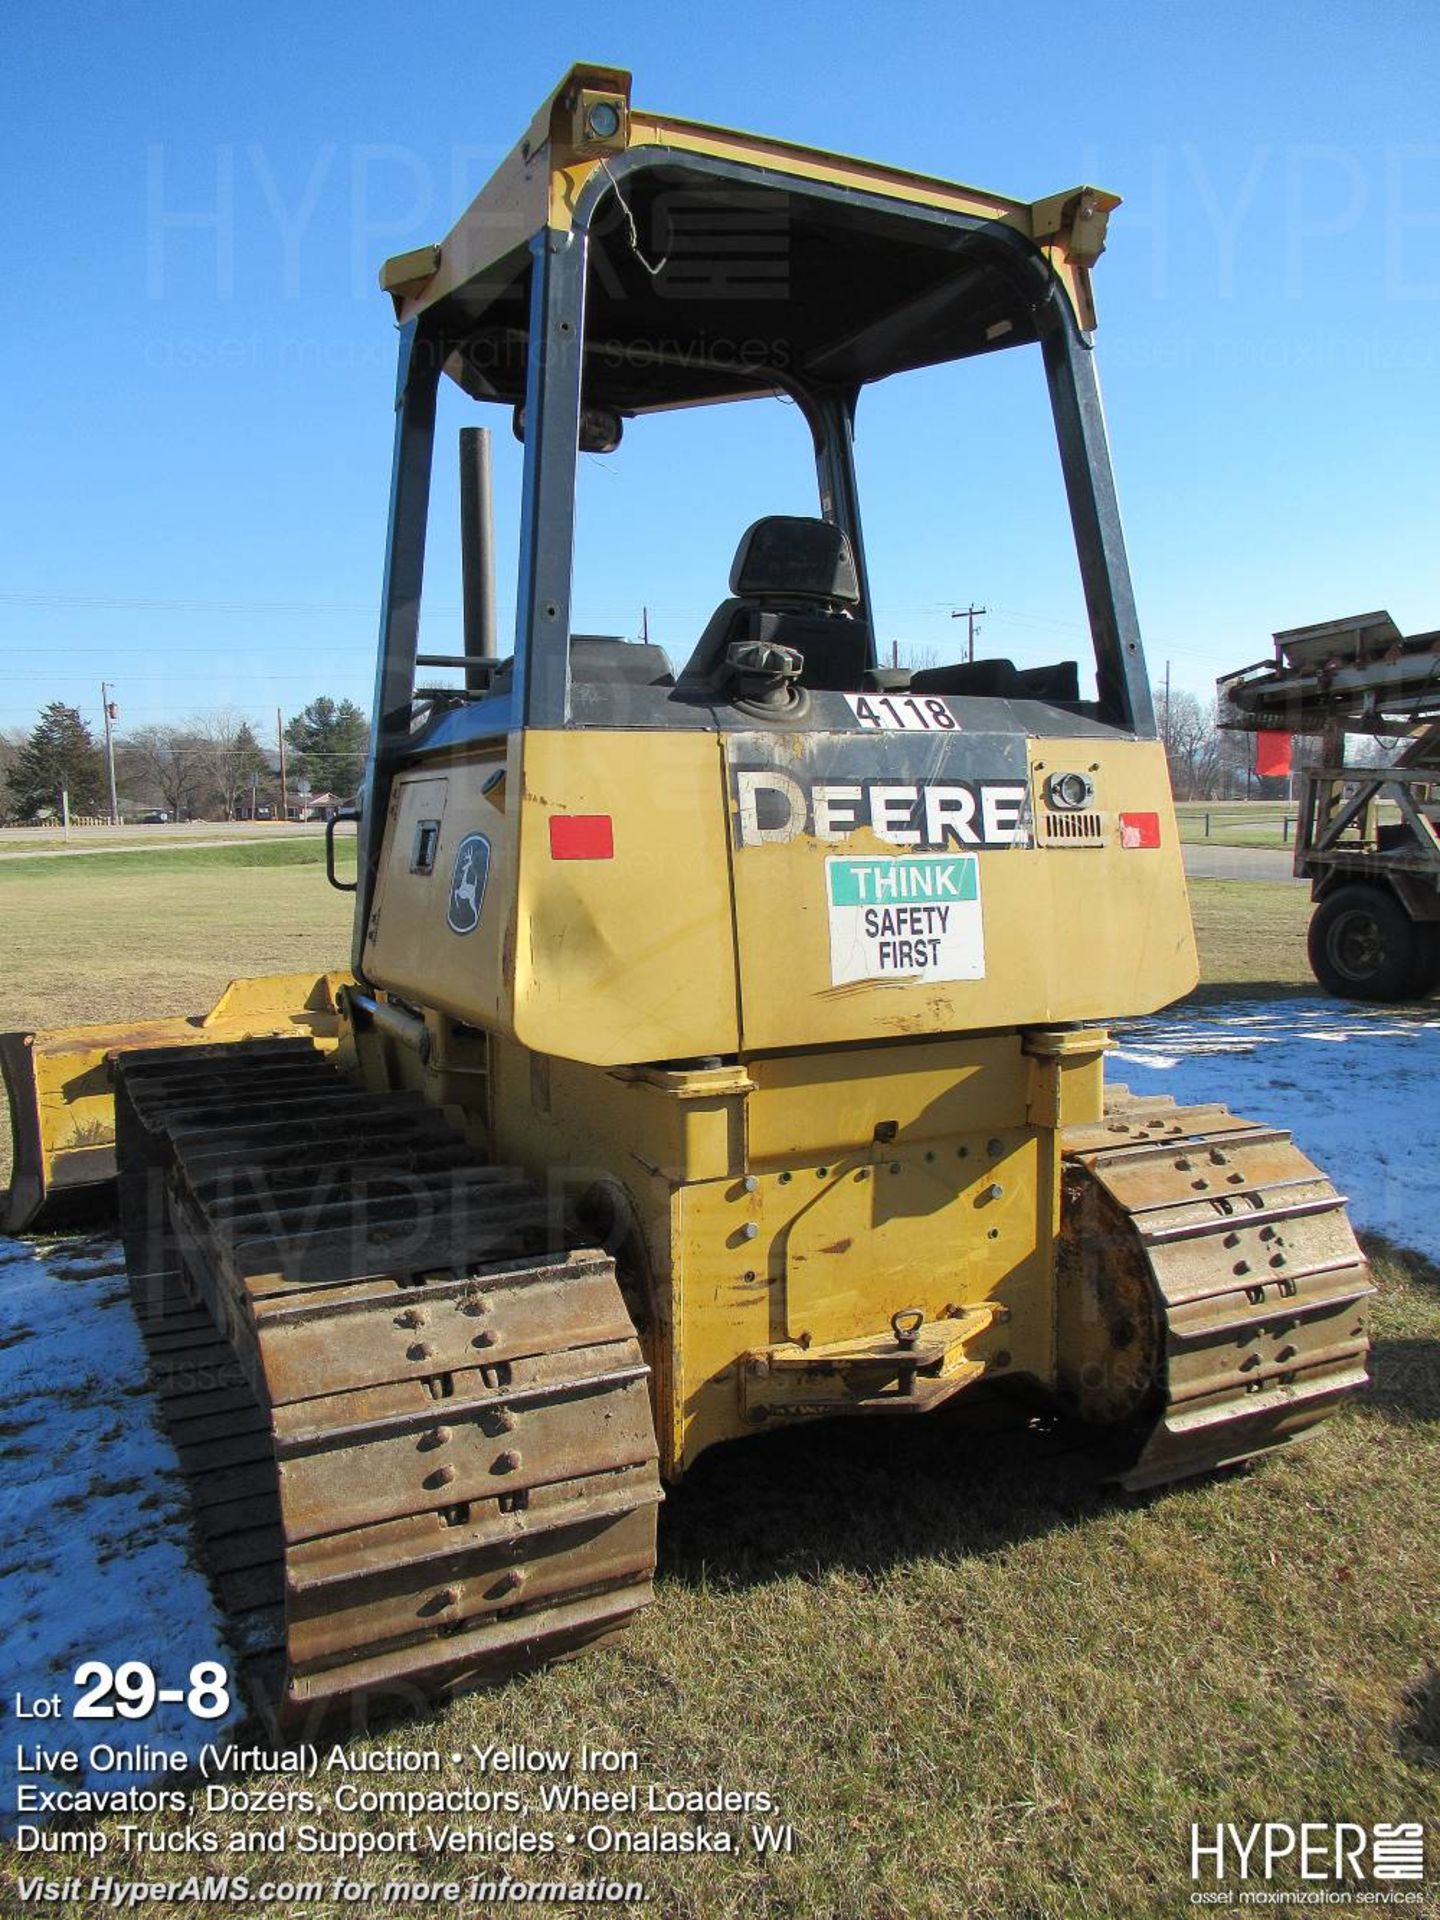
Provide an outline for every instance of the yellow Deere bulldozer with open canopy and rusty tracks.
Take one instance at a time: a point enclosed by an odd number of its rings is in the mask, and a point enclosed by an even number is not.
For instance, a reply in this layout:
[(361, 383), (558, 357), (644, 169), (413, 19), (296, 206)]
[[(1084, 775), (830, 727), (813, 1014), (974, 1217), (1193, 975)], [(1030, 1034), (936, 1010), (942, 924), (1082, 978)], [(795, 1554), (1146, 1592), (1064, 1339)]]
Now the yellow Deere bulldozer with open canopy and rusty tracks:
[[(4, 1043), (10, 1227), (119, 1171), (205, 1557), (280, 1722), (611, 1634), (651, 1597), (662, 1486), (718, 1442), (1016, 1382), (1142, 1488), (1363, 1384), (1325, 1175), (1104, 1085), (1106, 1023), (1196, 981), (1094, 372), (1116, 204), (697, 125), (580, 65), (447, 238), (384, 267), (349, 970)], [(680, 286), (651, 242), (678, 207), (762, 215), (781, 290), (720, 313)], [(989, 353), (1048, 390), (1092, 660), (883, 664), (856, 415)], [(505, 659), (476, 426), (463, 651), (420, 651), (442, 380), (524, 444)], [(808, 430), (814, 515), (749, 526), (684, 664), (574, 632), (580, 455), (760, 396)]]

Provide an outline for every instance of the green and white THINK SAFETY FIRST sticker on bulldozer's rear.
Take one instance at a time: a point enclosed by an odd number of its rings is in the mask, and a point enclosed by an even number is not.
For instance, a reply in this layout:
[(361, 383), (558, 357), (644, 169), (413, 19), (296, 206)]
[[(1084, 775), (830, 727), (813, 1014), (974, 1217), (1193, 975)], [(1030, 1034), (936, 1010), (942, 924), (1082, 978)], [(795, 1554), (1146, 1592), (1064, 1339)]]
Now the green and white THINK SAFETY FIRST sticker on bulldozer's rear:
[(975, 854), (826, 860), (829, 977), (985, 979)]

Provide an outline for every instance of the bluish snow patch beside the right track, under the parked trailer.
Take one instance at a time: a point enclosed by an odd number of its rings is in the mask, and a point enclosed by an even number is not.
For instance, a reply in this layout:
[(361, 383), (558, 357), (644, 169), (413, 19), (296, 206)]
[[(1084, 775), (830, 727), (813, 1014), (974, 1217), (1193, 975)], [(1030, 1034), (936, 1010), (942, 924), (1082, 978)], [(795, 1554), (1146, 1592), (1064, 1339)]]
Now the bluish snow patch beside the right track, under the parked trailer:
[(1294, 998), (1181, 1006), (1114, 1027), (1110, 1081), (1223, 1100), (1288, 1127), (1357, 1227), (1440, 1260), (1440, 1020), (1434, 1004)]

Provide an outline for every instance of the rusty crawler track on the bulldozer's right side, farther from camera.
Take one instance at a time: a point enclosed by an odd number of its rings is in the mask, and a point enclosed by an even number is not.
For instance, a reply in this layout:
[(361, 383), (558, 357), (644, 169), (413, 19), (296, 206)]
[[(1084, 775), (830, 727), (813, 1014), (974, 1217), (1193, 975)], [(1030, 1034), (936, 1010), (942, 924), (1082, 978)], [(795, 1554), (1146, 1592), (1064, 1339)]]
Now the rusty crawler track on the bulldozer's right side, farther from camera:
[(1313, 1432), (1367, 1380), (1369, 1267), (1288, 1133), (1110, 1089), (1064, 1137), (1060, 1352), (1160, 1486)]

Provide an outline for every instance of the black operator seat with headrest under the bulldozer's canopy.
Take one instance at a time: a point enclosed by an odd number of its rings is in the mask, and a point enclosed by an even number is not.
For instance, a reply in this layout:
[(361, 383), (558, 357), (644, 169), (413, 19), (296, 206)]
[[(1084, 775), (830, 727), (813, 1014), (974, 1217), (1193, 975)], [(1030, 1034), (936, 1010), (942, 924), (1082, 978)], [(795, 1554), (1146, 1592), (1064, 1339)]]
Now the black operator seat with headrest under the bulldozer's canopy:
[(818, 693), (860, 693), (870, 664), (870, 626), (856, 620), (860, 580), (851, 541), (829, 520), (772, 513), (741, 534), (720, 601), (680, 684), (724, 676), (737, 639), (793, 647), (804, 659), (801, 685)]

